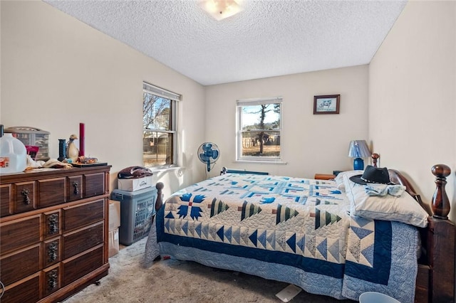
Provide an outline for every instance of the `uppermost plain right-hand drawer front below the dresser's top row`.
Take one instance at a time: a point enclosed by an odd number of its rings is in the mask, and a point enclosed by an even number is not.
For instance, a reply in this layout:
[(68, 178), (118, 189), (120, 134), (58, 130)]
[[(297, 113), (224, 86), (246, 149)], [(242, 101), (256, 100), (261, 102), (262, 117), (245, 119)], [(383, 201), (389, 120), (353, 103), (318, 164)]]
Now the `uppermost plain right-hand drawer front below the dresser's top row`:
[(63, 208), (63, 230), (65, 232), (82, 228), (103, 220), (105, 216), (105, 199), (90, 203)]

